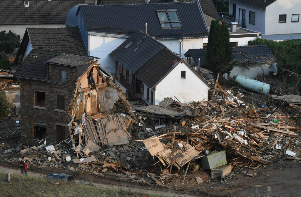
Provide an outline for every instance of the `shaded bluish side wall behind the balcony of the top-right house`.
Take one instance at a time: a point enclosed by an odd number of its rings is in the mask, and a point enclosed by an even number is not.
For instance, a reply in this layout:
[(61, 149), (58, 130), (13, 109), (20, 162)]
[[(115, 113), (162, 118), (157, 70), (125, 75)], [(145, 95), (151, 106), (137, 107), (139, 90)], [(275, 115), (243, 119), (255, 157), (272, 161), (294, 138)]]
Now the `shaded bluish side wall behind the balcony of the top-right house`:
[[(229, 2), (229, 13), (233, 13), (233, 2)], [(236, 19), (239, 20), (239, 8), (246, 10), (246, 29), (265, 33), (265, 10), (260, 10), (247, 5), (236, 4)], [(249, 23), (250, 11), (255, 12), (255, 25)], [(277, 20), (278, 21), (278, 20)], [(238, 21), (236, 21), (238, 22)]]

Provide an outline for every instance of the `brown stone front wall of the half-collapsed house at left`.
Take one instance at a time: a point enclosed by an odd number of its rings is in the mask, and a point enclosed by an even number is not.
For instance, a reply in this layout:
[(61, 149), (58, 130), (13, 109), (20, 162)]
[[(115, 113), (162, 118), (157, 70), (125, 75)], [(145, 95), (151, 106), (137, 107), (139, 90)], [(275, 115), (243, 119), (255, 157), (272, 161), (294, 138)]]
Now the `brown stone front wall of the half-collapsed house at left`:
[[(67, 70), (67, 81), (61, 81), (61, 69)], [(57, 125), (66, 126), (65, 139), (70, 137), (67, 124), (71, 119), (70, 103), (74, 100), (74, 90), (76, 89), (76, 68), (49, 65), (49, 81), (55, 81), (63, 84), (56, 84), (46, 81), (22, 79), (21, 81), (21, 142), (26, 145), (38, 145), (34, 139), (34, 122), (39, 122), (46, 127), (47, 144), (58, 142)], [(45, 90), (45, 108), (36, 109), (35, 90)], [(65, 111), (58, 112), (57, 109), (57, 92), (64, 93)]]

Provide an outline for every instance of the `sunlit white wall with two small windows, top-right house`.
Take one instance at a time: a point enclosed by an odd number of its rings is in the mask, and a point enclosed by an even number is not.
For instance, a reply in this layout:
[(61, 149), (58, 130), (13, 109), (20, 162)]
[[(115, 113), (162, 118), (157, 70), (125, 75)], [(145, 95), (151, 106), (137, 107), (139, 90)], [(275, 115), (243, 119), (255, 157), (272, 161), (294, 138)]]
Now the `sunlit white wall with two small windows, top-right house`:
[[(277, 0), (266, 8), (265, 34), (301, 33), (300, 0)], [(279, 14), (286, 14), (286, 23), (279, 23)], [(299, 22), (291, 22), (292, 14), (300, 14)]]

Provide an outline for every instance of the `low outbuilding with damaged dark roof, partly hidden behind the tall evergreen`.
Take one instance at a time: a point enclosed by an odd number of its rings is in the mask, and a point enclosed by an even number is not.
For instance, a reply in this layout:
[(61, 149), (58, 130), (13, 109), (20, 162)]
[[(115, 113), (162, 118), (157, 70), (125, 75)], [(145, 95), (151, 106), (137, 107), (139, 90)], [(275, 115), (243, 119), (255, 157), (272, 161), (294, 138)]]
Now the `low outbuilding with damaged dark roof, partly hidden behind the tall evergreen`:
[[(230, 71), (230, 77), (243, 75), (249, 78), (255, 78), (258, 74), (267, 75), (269, 65), (277, 60), (267, 45), (234, 46), (232, 55), (234, 57), (234, 68)], [(205, 66), (203, 49), (189, 49), (185, 53), (187, 61), (193, 66)]]

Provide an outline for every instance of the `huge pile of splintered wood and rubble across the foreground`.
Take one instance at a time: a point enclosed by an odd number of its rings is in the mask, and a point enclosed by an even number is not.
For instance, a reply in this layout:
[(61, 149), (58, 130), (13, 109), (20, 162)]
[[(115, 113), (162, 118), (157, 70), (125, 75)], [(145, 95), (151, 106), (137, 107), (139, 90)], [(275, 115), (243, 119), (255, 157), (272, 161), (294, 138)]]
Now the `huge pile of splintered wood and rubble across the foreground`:
[[(134, 116), (117, 112), (83, 116), (74, 122), (71, 138), (58, 145), (46, 146), (46, 140), (39, 147), (19, 145), (1, 157), (20, 152), (36, 167), (87, 170), (158, 185), (185, 180), (188, 168), (200, 169), (198, 159), (208, 151), (225, 152), (225, 164), (239, 170), (301, 160), (299, 106), (279, 106), (279, 101), (278, 106), (274, 101), (255, 106), (240, 92), (217, 86), (209, 101), (187, 104), (166, 98), (160, 106), (130, 109)], [(227, 169), (231, 172), (231, 166)]]

